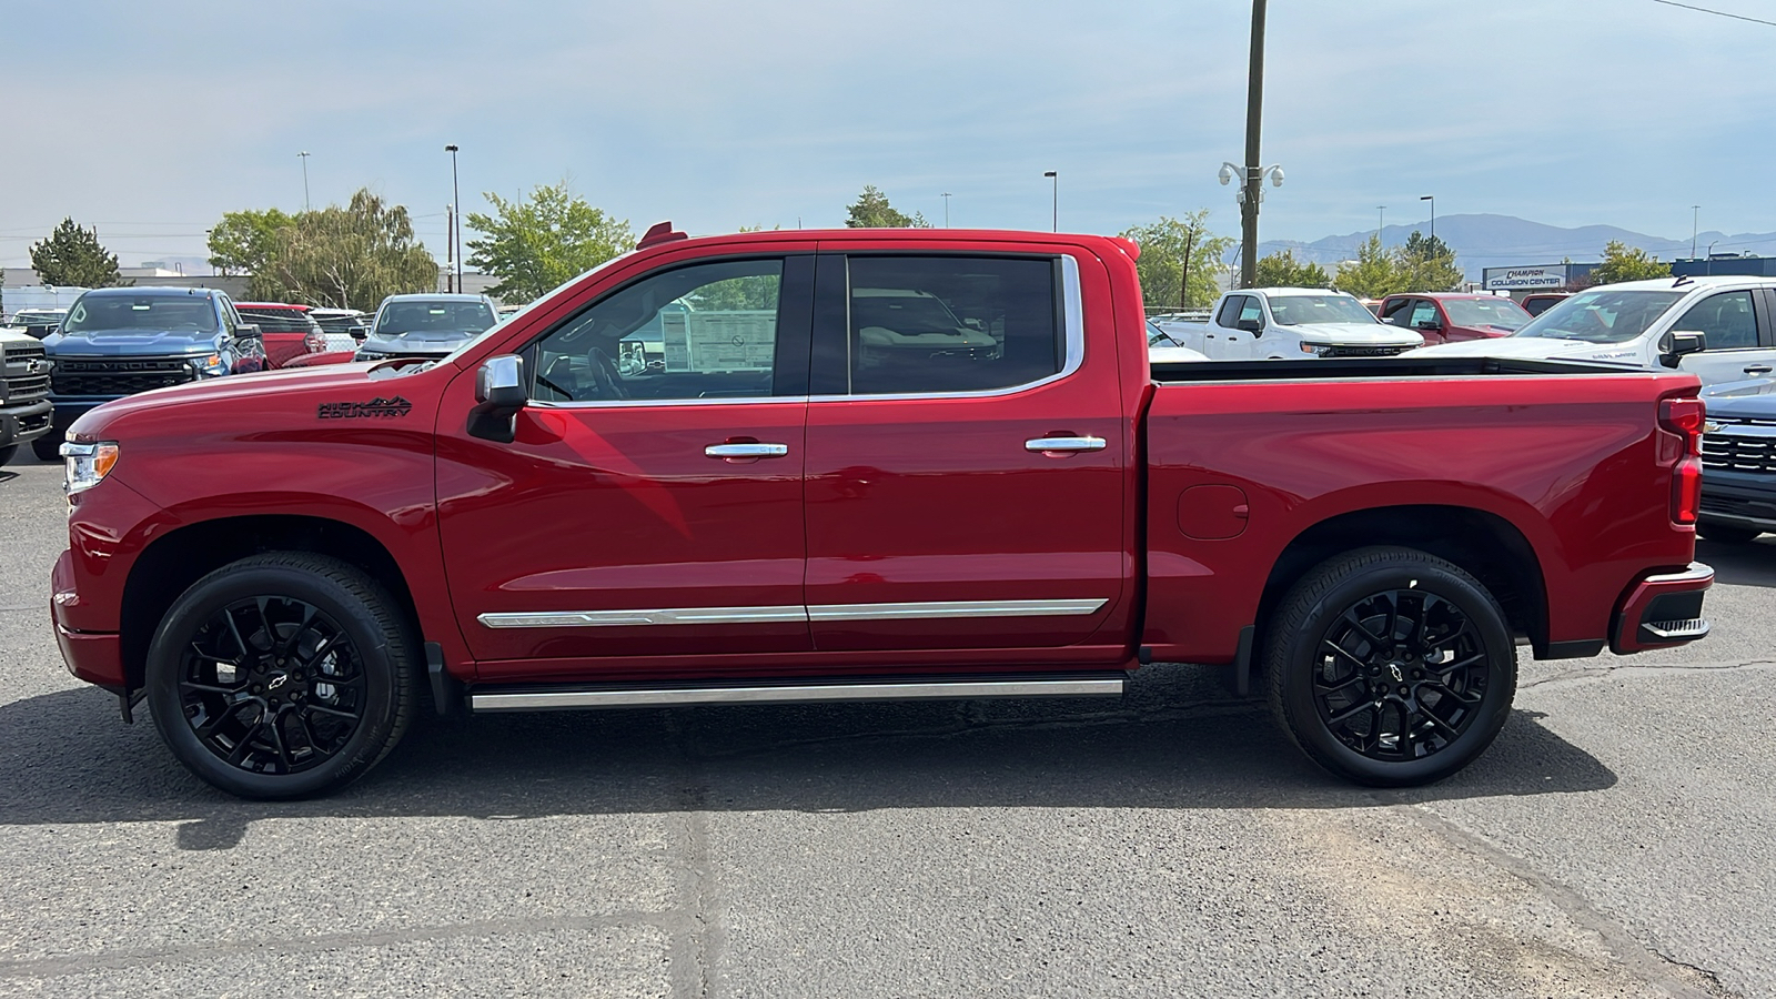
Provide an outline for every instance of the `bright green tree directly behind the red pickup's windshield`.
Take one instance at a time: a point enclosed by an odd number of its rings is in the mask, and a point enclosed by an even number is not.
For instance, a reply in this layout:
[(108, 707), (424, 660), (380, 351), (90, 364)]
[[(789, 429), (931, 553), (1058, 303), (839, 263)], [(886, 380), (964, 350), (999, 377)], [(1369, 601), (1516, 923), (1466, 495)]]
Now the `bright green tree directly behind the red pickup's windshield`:
[(487, 292), (513, 304), (531, 302), (636, 245), (629, 220), (593, 208), (567, 181), (536, 187), (527, 199), (487, 194), (494, 215), (471, 212), (469, 263), (499, 277)]

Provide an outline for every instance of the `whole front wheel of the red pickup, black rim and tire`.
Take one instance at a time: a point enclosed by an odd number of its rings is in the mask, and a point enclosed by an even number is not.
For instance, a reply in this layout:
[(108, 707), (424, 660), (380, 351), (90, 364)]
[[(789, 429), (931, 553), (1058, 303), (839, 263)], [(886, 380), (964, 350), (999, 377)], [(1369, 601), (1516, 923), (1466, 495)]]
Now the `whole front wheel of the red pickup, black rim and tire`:
[(396, 606), (369, 576), (320, 555), (256, 555), (210, 572), (174, 601), (147, 651), (162, 739), (242, 798), (345, 787), (412, 720), (417, 640)]

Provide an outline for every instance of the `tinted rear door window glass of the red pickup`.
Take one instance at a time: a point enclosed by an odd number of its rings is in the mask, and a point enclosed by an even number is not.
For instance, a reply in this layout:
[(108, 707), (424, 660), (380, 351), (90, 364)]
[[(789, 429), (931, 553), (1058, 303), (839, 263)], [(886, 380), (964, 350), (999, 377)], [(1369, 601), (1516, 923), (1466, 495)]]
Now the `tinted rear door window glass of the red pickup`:
[(1053, 260), (852, 256), (851, 393), (989, 391), (1058, 373)]

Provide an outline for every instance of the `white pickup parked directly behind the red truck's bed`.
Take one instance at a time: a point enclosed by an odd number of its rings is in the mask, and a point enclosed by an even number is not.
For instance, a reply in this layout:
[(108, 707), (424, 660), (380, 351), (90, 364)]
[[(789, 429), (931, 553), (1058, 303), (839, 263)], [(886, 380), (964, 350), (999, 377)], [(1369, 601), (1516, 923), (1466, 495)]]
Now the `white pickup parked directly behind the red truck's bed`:
[(1241, 288), (1220, 297), (1209, 322), (1158, 322), (1209, 361), (1391, 357), (1424, 345), (1417, 332), (1384, 325), (1355, 297), (1325, 288)]

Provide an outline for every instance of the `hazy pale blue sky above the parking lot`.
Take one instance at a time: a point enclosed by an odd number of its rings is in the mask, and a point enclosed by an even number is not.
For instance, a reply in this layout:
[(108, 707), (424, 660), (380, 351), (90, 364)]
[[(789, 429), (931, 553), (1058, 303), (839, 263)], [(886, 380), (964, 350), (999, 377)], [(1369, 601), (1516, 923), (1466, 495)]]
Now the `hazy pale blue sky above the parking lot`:
[[(1776, 0), (1694, 0), (1776, 21)], [(1209, 208), (1245, 130), (1243, 0), (55, 0), (4, 18), (0, 267), (64, 215), (124, 265), (236, 208), (371, 187), (442, 258), (462, 190), (567, 178), (636, 231), (836, 226), (865, 183), (954, 226)], [(1655, 0), (1272, 0), (1263, 238), (1497, 212), (1776, 229), (1776, 27)], [(1460, 247), (1458, 247), (1460, 249)]]

